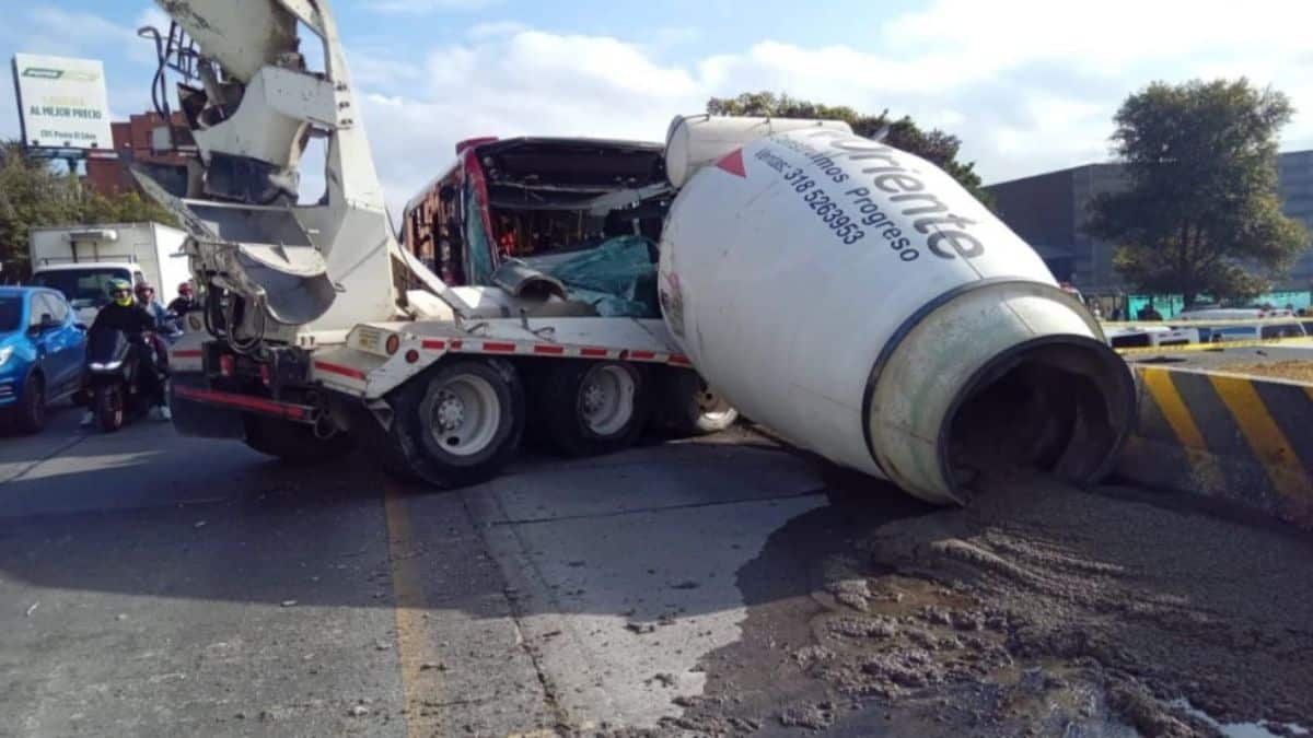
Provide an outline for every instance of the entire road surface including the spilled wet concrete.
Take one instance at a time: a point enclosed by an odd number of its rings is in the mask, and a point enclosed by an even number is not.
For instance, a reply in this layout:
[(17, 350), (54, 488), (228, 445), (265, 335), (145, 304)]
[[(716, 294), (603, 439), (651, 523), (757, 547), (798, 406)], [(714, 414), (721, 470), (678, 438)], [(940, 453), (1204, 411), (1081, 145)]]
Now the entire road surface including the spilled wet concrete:
[(737, 429), (433, 494), (72, 423), (0, 446), (0, 735), (1313, 727), (1306, 534), (1144, 491), (932, 508)]

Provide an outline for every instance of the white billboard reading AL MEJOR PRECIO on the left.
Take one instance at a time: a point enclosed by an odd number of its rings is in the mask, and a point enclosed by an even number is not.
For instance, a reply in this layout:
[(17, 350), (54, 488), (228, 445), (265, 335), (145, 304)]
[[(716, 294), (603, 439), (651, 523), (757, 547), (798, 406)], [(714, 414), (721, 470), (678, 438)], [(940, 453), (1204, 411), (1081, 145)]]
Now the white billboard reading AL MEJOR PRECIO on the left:
[(13, 83), (24, 146), (114, 150), (100, 60), (14, 54)]

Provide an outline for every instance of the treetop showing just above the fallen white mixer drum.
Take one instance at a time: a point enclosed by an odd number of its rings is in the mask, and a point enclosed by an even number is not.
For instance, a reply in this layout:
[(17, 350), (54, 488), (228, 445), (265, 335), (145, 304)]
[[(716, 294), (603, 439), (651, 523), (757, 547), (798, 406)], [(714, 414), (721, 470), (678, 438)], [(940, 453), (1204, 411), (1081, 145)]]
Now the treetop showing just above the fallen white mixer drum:
[(939, 129), (922, 130), (910, 117), (890, 119), (889, 110), (878, 116), (859, 113), (847, 105), (822, 105), (773, 92), (744, 92), (738, 97), (713, 97), (706, 102), (713, 116), (771, 116), (777, 118), (825, 118), (844, 121), (857, 135), (882, 135), (885, 143), (915, 154), (953, 176), (977, 200), (993, 207), (994, 197), (981, 188), (974, 162), (958, 162), (961, 139)]

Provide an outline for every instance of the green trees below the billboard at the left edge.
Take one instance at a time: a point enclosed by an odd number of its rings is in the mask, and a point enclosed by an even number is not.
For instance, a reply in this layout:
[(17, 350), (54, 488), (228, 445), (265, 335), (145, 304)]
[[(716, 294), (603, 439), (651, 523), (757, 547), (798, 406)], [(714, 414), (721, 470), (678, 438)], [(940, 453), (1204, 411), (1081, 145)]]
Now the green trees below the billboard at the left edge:
[(142, 221), (176, 225), (164, 207), (135, 192), (97, 194), (49, 162), (26, 156), (17, 142), (0, 142), (0, 260), (7, 267), (26, 269), (34, 227)]

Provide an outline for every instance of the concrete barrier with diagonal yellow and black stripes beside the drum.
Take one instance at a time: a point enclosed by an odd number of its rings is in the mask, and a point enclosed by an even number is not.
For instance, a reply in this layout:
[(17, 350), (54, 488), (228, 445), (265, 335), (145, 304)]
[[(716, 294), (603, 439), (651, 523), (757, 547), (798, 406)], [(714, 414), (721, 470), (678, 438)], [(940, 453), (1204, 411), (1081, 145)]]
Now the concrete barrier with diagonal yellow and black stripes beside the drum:
[(1313, 528), (1313, 385), (1136, 365), (1140, 416), (1117, 473)]

